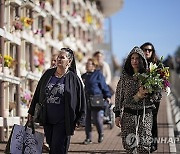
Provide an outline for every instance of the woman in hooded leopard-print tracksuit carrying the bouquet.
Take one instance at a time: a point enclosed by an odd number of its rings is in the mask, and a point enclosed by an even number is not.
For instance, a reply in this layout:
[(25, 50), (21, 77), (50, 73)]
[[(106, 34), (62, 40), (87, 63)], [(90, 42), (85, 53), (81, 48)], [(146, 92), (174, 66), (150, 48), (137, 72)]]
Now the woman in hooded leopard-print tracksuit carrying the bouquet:
[(115, 93), (115, 124), (121, 127), (123, 147), (127, 153), (149, 154), (151, 145), (151, 96), (135, 73), (145, 73), (147, 61), (143, 51), (134, 47), (126, 58)]

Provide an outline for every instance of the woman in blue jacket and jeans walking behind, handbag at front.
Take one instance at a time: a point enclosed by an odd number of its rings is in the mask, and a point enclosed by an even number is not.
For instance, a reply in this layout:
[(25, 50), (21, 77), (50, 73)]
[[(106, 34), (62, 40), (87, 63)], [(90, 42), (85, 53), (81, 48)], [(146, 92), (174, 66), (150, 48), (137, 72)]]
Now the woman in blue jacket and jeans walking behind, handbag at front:
[[(92, 143), (92, 120), (96, 125), (98, 132), (98, 143), (101, 143), (104, 139), (103, 134), (103, 108), (102, 107), (92, 107), (90, 100), (96, 96), (102, 96), (106, 101), (110, 102), (111, 94), (109, 88), (105, 82), (105, 78), (100, 70), (96, 69), (97, 62), (90, 58), (86, 63), (87, 72), (82, 75), (82, 79), (85, 85), (85, 95), (87, 100), (87, 114), (85, 121), (85, 133), (86, 139), (84, 144)], [(92, 118), (91, 118), (92, 117)]]

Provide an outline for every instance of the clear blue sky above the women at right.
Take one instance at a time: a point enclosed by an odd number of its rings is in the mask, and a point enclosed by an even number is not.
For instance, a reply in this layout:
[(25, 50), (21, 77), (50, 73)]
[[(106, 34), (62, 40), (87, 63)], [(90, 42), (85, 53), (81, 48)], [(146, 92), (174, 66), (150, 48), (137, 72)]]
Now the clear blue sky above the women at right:
[(120, 63), (147, 41), (159, 57), (173, 55), (180, 46), (180, 0), (124, 0), (111, 21), (112, 51)]

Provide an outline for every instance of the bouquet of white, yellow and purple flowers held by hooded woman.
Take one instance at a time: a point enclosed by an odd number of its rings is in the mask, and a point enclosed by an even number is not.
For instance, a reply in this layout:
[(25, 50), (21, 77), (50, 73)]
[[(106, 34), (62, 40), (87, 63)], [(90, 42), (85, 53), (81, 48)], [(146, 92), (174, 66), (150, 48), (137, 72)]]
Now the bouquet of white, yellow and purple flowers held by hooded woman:
[(150, 63), (146, 73), (137, 73), (135, 76), (140, 80), (140, 84), (148, 90), (149, 93), (164, 90), (167, 96), (170, 94), (169, 67), (165, 67), (161, 57), (158, 65)]

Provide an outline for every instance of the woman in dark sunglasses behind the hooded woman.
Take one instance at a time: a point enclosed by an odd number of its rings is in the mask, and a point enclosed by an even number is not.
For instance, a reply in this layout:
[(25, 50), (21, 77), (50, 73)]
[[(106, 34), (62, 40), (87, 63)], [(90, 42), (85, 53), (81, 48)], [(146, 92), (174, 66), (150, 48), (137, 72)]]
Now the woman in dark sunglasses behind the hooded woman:
[[(150, 42), (145, 42), (140, 46), (140, 48), (143, 50), (145, 57), (148, 62), (148, 66), (150, 63), (156, 64), (158, 66), (159, 64), (159, 59), (156, 55), (156, 50), (153, 46), (152, 43)], [(155, 93), (155, 92), (154, 92)], [(161, 102), (162, 94), (161, 91), (156, 91), (156, 98), (154, 99), (154, 104), (156, 108), (153, 110), (153, 126), (152, 126), (152, 144), (151, 144), (151, 152), (154, 152), (157, 150), (158, 144), (158, 128), (157, 128), (157, 114), (159, 111), (159, 105)]]

